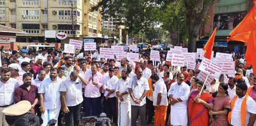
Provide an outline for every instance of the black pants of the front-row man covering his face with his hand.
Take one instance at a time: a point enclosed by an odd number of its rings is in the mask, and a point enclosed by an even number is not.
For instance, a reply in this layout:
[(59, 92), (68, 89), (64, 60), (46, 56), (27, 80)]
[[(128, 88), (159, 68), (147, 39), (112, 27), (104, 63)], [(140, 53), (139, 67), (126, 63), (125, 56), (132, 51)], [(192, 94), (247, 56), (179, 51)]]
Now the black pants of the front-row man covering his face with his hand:
[(81, 103), (76, 106), (67, 106), (69, 112), (65, 113), (65, 126), (72, 126), (72, 117), (74, 119), (74, 126), (79, 126), (81, 115)]

